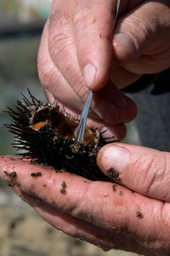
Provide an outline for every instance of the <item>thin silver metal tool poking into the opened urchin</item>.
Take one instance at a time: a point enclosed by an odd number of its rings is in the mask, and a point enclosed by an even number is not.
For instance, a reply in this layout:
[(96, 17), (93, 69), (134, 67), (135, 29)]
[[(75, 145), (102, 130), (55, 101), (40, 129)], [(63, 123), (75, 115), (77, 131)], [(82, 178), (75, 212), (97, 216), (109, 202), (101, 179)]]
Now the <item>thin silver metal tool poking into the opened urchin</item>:
[[(116, 23), (117, 15), (119, 13), (120, 4), (121, 4), (121, 0), (117, 0), (114, 25)], [(82, 108), (81, 119), (80, 119), (80, 123), (79, 123), (78, 129), (77, 129), (77, 142), (82, 142), (84, 139), (86, 123), (87, 123), (87, 119), (88, 119), (88, 112), (89, 112), (89, 108), (90, 108), (90, 105), (92, 102), (93, 95), (94, 95), (94, 91), (89, 90), (88, 97), (86, 99), (86, 102), (84, 102), (84, 105)]]

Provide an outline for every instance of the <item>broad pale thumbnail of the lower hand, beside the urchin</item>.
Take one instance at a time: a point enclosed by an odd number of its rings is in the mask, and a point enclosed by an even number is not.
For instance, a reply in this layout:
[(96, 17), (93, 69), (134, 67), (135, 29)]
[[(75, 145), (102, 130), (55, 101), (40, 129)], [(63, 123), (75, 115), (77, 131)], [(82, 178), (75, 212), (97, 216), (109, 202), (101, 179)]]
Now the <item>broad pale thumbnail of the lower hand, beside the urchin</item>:
[(113, 168), (119, 174), (122, 174), (129, 160), (129, 151), (127, 148), (111, 145), (99, 152), (98, 164), (99, 167), (106, 172)]

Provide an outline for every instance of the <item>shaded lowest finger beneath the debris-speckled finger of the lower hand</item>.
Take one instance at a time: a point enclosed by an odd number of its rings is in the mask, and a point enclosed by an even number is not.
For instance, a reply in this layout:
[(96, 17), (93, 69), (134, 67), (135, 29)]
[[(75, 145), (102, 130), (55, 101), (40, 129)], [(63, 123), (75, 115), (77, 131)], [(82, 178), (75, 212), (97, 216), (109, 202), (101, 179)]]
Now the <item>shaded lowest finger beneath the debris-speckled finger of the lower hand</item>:
[[(91, 242), (105, 251), (111, 248), (124, 249), (126, 251), (133, 251), (134, 248), (139, 248), (137, 241), (117, 233), (116, 230), (111, 232), (99, 228), (99, 226), (90, 224), (88, 221), (75, 218), (68, 213), (62, 212), (58, 207), (53, 207), (39, 198), (28, 195), (22, 191), (20, 191), (20, 193), (22, 199), (30, 204), (43, 219), (58, 230), (65, 232), (67, 235)], [(139, 250), (139, 252), (141, 252), (141, 250)]]

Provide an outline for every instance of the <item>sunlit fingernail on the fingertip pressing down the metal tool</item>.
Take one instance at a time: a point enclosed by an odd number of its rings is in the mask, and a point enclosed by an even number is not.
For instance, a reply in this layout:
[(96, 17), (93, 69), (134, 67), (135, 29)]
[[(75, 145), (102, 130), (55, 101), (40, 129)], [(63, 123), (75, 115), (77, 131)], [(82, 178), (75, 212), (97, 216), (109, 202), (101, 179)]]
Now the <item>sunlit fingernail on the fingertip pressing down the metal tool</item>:
[(94, 84), (96, 72), (96, 67), (92, 64), (87, 64), (83, 69), (83, 77), (89, 89), (91, 89), (90, 87)]

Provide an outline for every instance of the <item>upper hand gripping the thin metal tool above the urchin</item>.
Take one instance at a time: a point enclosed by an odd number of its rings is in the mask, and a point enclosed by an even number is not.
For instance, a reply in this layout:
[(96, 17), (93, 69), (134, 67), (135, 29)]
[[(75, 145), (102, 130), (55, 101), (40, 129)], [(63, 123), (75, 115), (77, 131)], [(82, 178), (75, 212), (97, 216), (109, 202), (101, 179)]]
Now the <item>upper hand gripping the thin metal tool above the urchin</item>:
[(98, 90), (90, 114), (110, 124), (130, 121), (136, 108), (107, 80), (122, 88), (170, 64), (169, 1), (122, 1), (111, 43), (115, 8), (111, 0), (55, 0), (37, 60), (44, 87), (71, 108)]

